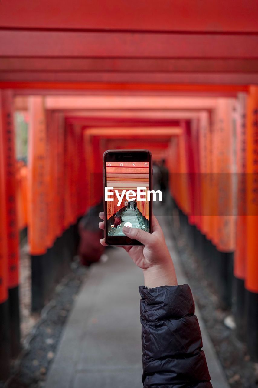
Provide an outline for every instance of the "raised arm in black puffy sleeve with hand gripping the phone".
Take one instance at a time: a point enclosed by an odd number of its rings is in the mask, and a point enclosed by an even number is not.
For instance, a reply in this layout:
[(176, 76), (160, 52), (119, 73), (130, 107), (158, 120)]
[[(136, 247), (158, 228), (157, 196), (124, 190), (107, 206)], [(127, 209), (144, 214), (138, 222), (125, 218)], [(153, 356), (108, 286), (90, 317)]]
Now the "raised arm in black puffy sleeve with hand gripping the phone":
[(124, 247), (144, 274), (145, 286), (139, 288), (144, 388), (212, 388), (191, 290), (177, 285), (157, 219), (153, 216), (152, 234), (127, 227), (123, 232), (144, 244)]

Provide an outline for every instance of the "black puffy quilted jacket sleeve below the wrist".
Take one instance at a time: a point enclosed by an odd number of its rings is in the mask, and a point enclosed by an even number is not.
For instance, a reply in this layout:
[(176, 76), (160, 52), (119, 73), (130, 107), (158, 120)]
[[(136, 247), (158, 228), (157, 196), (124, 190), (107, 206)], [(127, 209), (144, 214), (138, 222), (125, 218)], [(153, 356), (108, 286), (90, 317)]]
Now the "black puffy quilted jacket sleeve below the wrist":
[(189, 286), (139, 291), (144, 388), (212, 388)]

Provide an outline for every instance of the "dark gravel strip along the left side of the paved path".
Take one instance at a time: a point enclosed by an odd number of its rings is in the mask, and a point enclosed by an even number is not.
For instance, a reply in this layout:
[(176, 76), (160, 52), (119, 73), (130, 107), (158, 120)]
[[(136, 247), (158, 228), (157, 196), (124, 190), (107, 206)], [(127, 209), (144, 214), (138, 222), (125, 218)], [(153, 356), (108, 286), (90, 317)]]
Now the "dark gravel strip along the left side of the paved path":
[(21, 357), (12, 368), (13, 375), (5, 384), (0, 382), (0, 388), (45, 386), (46, 374), (55, 357), (64, 324), (85, 276), (87, 269), (72, 263), (71, 273), (57, 286), (53, 299), (43, 308), (36, 325), (25, 336)]

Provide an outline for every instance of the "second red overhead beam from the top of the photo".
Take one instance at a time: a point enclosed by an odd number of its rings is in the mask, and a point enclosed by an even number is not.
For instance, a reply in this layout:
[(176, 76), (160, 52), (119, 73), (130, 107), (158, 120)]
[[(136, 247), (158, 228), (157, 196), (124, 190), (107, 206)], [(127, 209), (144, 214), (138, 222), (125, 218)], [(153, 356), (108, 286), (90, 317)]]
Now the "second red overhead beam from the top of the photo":
[(255, 34), (0, 30), (2, 57), (258, 58)]

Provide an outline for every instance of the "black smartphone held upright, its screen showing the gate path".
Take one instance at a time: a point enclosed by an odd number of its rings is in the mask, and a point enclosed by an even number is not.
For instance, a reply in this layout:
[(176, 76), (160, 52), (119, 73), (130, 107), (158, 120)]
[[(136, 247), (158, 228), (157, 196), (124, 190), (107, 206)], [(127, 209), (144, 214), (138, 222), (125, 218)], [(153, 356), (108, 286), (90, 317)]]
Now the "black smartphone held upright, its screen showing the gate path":
[(143, 245), (125, 236), (124, 226), (152, 232), (152, 154), (148, 150), (109, 150), (103, 154), (105, 242)]

